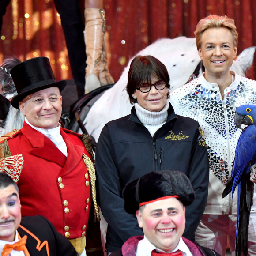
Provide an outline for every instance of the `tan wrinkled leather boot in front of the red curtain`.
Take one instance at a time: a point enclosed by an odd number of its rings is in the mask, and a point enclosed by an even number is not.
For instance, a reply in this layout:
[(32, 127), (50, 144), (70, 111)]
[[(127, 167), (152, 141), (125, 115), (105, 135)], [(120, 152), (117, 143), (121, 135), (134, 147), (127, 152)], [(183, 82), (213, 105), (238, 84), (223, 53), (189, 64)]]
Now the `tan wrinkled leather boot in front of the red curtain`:
[(85, 90), (90, 92), (100, 86), (114, 83), (104, 53), (105, 11), (86, 8), (84, 40), (86, 45), (87, 67), (85, 69)]

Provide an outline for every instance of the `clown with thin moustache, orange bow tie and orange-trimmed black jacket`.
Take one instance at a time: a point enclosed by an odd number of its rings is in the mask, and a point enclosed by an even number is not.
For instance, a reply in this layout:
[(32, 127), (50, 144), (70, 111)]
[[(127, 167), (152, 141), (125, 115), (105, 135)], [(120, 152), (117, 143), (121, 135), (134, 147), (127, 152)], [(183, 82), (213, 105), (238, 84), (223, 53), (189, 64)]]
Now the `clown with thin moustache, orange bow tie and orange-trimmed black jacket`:
[(0, 255), (77, 256), (67, 238), (43, 216), (21, 217), (19, 188), (0, 173)]

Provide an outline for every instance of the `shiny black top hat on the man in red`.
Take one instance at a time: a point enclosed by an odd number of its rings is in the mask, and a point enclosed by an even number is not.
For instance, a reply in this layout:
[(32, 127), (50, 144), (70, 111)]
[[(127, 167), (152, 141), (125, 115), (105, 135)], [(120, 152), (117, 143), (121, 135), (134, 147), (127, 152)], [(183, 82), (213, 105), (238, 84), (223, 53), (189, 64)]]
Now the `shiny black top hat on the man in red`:
[(19, 109), (19, 102), (29, 94), (50, 87), (58, 87), (62, 91), (67, 84), (65, 80), (56, 82), (47, 57), (25, 60), (13, 67), (10, 74), (18, 93), (11, 100), (11, 105), (16, 109)]

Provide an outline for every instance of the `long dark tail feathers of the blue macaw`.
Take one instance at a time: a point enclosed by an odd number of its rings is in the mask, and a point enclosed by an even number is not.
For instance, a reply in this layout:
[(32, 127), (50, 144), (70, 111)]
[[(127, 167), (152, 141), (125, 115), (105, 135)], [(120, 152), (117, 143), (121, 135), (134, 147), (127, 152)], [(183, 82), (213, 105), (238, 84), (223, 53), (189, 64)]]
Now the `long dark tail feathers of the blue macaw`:
[(250, 175), (243, 176), (237, 189), (236, 256), (248, 255), (248, 226), (253, 204), (253, 183)]

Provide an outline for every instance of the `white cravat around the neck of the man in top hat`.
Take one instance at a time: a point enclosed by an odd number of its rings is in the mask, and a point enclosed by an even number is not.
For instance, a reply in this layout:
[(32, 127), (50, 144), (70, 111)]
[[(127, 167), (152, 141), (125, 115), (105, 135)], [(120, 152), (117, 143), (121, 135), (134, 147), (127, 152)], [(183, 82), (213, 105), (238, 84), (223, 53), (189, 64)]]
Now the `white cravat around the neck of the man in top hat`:
[(60, 135), (60, 124), (56, 128), (52, 129), (44, 129), (44, 128), (38, 128), (34, 125), (30, 124), (30, 122), (25, 117), (25, 122), (29, 124), (32, 128), (37, 130), (38, 132), (41, 132), (44, 136), (46, 136), (48, 139), (50, 139), (55, 146), (65, 155), (68, 155), (67, 145), (64, 142), (64, 139)]

